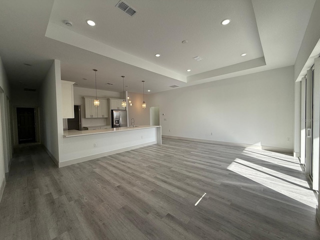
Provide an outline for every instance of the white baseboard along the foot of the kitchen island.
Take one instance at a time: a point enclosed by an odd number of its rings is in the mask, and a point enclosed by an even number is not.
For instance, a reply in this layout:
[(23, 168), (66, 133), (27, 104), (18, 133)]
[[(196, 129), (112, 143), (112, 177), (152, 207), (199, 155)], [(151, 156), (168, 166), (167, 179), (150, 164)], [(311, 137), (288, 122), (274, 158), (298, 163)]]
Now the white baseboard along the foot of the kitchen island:
[(120, 148), (120, 149), (101, 152), (101, 153), (90, 155), (90, 156), (79, 157), (79, 158), (75, 158), (75, 159), (71, 159), (71, 160), (67, 160), (67, 161), (60, 161), (57, 165), (58, 165), (58, 167), (68, 166), (68, 165), (72, 165), (72, 164), (75, 164), (75, 163), (80, 163), (80, 162), (83, 162), (83, 161), (88, 161), (88, 160), (96, 159), (96, 158), (99, 158), (99, 157), (108, 156), (108, 155), (120, 153), (120, 152), (123, 152), (123, 151), (128, 151), (128, 150), (140, 148), (140, 147), (143, 147), (143, 146), (153, 145), (153, 144), (156, 144), (156, 143), (157, 143), (156, 141), (151, 141), (151, 142), (138, 144), (138, 145), (134, 145), (134, 146), (128, 146), (128, 147), (124, 147), (124, 148)]

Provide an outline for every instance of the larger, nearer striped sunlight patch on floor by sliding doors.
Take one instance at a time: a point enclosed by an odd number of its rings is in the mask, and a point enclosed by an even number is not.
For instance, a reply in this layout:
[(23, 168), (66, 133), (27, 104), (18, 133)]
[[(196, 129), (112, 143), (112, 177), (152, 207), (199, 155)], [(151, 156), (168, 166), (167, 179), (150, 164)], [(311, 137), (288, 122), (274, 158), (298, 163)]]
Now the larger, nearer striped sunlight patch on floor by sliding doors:
[(317, 201), (306, 180), (236, 158), (227, 169), (315, 208)]

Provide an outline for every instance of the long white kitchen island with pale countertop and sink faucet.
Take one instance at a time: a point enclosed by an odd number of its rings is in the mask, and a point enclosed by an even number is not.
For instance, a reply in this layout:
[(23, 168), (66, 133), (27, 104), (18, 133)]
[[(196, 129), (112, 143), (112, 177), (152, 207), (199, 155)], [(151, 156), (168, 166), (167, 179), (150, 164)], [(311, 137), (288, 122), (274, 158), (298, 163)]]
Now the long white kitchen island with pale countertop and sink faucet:
[(94, 130), (64, 130), (58, 166), (161, 144), (161, 126), (141, 125)]

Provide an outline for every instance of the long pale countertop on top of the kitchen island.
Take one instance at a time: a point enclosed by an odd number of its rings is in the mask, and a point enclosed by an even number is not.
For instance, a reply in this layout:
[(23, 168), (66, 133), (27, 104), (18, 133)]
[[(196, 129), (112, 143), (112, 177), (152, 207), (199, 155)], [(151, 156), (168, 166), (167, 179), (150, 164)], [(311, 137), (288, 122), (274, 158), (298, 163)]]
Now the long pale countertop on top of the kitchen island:
[(136, 130), (142, 128), (151, 128), (151, 127), (160, 127), (160, 126), (152, 126), (152, 125), (141, 125), (141, 126), (126, 126), (126, 127), (113, 127), (113, 128), (105, 128), (105, 129), (95, 129), (95, 130), (64, 130), (63, 137), (71, 137), (71, 136), (83, 136), (83, 135), (91, 135), (91, 134), (99, 134), (99, 133), (108, 133), (108, 132), (116, 132), (116, 131), (129, 131)]

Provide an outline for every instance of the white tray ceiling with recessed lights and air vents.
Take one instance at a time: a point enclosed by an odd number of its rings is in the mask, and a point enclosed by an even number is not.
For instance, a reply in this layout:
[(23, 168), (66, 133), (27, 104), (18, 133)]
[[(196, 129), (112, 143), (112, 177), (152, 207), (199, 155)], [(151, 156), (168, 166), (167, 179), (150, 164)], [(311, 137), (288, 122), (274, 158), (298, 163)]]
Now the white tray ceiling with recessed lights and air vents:
[(94, 88), (97, 68), (99, 89), (121, 91), (125, 75), (126, 90), (141, 92), (145, 80), (151, 93), (293, 65), (315, 0), (125, 0), (133, 16), (117, 2), (1, 0), (0, 56), (11, 86), (38, 88), (52, 59), (76, 86)]

